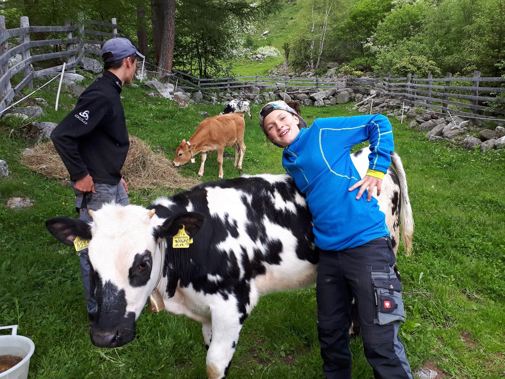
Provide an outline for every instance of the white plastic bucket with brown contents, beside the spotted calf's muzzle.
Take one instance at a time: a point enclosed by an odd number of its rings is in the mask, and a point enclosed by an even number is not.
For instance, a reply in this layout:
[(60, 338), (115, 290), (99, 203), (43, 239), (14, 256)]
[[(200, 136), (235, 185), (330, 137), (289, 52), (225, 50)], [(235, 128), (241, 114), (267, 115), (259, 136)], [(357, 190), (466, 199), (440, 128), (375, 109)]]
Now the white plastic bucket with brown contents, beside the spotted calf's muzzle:
[(10, 354), (23, 358), (14, 367), (0, 373), (1, 379), (26, 379), (30, 366), (30, 357), (35, 351), (33, 341), (28, 337), (18, 336), (18, 325), (0, 326), (0, 329), (11, 329), (12, 335), (0, 336), (0, 355)]

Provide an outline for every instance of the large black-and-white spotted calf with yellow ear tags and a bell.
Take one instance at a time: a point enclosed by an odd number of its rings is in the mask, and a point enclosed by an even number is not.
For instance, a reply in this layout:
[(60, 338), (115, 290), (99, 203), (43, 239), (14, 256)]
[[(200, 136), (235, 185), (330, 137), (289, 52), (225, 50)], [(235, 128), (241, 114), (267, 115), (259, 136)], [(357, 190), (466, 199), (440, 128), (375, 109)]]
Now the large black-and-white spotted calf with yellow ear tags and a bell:
[[(368, 167), (368, 153), (366, 148), (352, 156), (361, 174)], [(401, 213), (408, 251), (414, 224), (405, 172), (395, 153), (392, 166), (396, 172), (390, 169), (384, 177), (378, 200), (395, 252)], [(172, 240), (180, 225), (193, 243), (174, 249)], [(288, 175), (244, 175), (204, 183), (160, 198), (147, 209), (106, 204), (94, 212), (90, 225), (56, 217), (46, 226), (67, 245), (76, 236), (91, 239), (88, 254), (98, 311), (90, 337), (99, 347), (120, 347), (135, 337), (135, 320), (161, 268), (158, 242), (167, 241), (157, 288), (167, 311), (202, 323), (212, 379), (227, 375), (242, 324), (260, 295), (306, 287), (316, 280), (312, 216)]]

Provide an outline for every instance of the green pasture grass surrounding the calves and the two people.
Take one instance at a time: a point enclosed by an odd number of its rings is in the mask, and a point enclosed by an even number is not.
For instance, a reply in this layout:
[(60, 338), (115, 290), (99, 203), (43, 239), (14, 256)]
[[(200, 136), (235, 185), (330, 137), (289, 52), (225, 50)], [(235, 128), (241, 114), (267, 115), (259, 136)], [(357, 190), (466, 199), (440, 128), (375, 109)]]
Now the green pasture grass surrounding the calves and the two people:
[[(89, 80), (88, 82), (89, 83)], [(222, 106), (181, 109), (170, 101), (147, 98), (146, 87), (126, 86), (122, 95), (131, 134), (161, 147), (167, 157), (202, 119)], [(54, 86), (42, 97), (53, 109), (40, 120), (58, 122), (68, 109), (54, 111)], [(63, 107), (75, 99), (63, 93)], [(244, 173), (282, 173), (281, 150), (267, 143), (258, 127), (259, 107), (246, 121)], [(304, 107), (315, 117), (350, 115), (343, 106)], [(35, 343), (30, 378), (206, 378), (201, 327), (166, 312), (141, 314), (137, 338), (119, 349), (100, 349), (89, 341), (79, 260), (47, 233), (44, 221), (56, 215), (75, 217), (73, 192), (37, 175), (18, 159), (29, 143), (16, 124), (0, 120), (0, 158), (10, 167), (0, 179), (0, 201), (23, 196), (34, 206), (20, 211), (0, 205), (0, 325), (19, 324), (19, 334)], [(429, 143), (423, 133), (392, 119), (396, 151), (407, 172), (416, 221), (414, 252), (402, 249), (407, 323), (400, 333), (412, 367), (426, 362), (454, 378), (498, 377), (505, 368), (505, 153), (467, 152), (446, 143)], [(13, 130), (14, 129), (14, 130)], [(226, 149), (225, 178), (238, 176), (233, 150)], [(180, 172), (196, 177), (198, 165)], [(203, 180), (215, 180), (216, 155), (206, 163)], [(130, 200), (145, 205), (166, 188), (133, 191)], [(66, 203), (66, 204), (62, 204)], [(231, 378), (323, 378), (316, 329), (315, 290), (261, 298), (246, 320), (230, 367)], [(351, 342), (352, 377), (372, 378), (361, 339)]]

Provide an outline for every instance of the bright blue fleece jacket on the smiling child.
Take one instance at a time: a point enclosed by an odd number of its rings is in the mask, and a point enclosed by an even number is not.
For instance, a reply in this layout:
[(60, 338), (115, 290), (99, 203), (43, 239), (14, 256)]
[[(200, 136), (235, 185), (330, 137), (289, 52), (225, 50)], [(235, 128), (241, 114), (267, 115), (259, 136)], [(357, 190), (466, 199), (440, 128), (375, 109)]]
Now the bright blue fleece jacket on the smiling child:
[(394, 148), (391, 123), (380, 114), (318, 118), (283, 151), (282, 166), (306, 195), (315, 243), (322, 250), (354, 248), (389, 235), (377, 200), (367, 202), (367, 191), (356, 200), (359, 187), (348, 191), (361, 180), (350, 149), (366, 140), (371, 150), (367, 173), (380, 177)]

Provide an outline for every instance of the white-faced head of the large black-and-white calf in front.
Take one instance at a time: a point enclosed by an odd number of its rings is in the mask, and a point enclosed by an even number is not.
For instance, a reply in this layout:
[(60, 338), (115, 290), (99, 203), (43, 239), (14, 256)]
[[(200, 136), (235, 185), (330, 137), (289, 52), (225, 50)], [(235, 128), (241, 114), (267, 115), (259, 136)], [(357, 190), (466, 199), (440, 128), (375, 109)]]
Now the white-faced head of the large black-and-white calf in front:
[(90, 239), (91, 291), (97, 311), (90, 329), (99, 347), (120, 347), (135, 337), (135, 320), (154, 290), (161, 268), (158, 242), (171, 241), (184, 225), (193, 236), (204, 222), (196, 212), (159, 218), (154, 210), (136, 205), (105, 204), (92, 222), (56, 217), (47, 220), (49, 232), (65, 245), (79, 236)]

